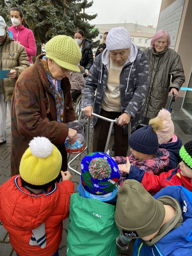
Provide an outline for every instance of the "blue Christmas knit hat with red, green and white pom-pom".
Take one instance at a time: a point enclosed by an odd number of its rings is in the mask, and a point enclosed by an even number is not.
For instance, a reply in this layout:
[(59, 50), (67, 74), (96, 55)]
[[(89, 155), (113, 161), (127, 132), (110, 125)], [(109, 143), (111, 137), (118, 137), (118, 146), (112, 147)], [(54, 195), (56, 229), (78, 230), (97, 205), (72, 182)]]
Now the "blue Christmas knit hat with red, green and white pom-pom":
[(92, 194), (112, 192), (120, 179), (117, 163), (107, 154), (91, 153), (81, 161), (81, 181), (83, 187)]

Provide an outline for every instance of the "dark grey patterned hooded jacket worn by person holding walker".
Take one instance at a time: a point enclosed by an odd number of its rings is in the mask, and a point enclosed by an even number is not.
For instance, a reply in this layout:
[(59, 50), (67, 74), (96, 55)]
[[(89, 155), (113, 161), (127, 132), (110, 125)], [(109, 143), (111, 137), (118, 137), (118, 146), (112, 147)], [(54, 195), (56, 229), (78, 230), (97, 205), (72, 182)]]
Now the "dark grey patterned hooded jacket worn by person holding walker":
[[(100, 113), (106, 90), (109, 71), (109, 51), (107, 48), (99, 54), (89, 71), (85, 82), (85, 107), (92, 106), (95, 114)], [(147, 55), (132, 43), (129, 58), (120, 74), (121, 113), (131, 115), (131, 131), (143, 121), (143, 102), (149, 86), (149, 65)], [(97, 89), (96, 97), (95, 89)], [(94, 101), (95, 100), (95, 101)], [(93, 119), (93, 127), (97, 118)], [(123, 126), (128, 134), (128, 125)]]

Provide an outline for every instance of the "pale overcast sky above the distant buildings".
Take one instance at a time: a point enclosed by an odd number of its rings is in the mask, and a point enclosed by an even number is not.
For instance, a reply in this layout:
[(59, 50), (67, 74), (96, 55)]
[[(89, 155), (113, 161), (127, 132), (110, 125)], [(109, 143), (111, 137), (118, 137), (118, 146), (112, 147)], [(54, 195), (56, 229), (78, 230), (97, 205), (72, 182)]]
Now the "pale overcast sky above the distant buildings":
[(93, 5), (85, 9), (87, 14), (98, 16), (91, 24), (135, 23), (157, 26), (161, 0), (93, 0)]

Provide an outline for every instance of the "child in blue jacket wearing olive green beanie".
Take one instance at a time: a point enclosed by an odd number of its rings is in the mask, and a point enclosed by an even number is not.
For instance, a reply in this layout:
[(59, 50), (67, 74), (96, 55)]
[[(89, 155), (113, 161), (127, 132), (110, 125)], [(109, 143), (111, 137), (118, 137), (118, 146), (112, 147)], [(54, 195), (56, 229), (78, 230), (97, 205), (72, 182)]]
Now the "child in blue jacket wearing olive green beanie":
[(135, 180), (119, 191), (115, 222), (122, 235), (137, 238), (133, 256), (192, 255), (192, 193), (168, 186), (152, 197)]

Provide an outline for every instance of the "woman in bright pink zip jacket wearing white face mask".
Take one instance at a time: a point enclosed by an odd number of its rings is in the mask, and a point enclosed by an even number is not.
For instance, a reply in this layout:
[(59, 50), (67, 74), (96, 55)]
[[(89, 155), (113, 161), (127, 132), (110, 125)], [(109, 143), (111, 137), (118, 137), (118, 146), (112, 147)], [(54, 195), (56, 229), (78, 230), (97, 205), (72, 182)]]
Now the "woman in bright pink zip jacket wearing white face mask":
[(30, 65), (33, 64), (32, 56), (36, 55), (36, 44), (33, 32), (23, 18), (23, 12), (17, 7), (10, 9), (12, 26), (8, 27), (13, 32), (13, 39), (25, 47)]

